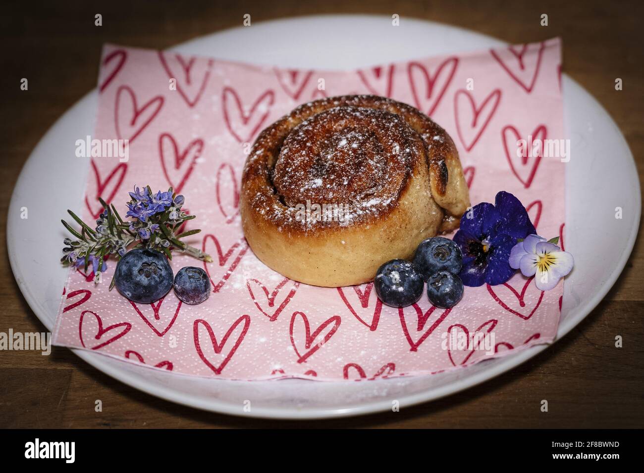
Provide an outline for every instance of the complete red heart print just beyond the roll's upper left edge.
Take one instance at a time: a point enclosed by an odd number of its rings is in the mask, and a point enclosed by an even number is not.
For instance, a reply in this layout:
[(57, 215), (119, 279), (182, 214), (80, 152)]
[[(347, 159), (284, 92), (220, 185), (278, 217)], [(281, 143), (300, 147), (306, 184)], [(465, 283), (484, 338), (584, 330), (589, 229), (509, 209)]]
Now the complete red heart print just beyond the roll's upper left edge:
[(275, 93), (267, 90), (258, 97), (250, 108), (242, 103), (237, 91), (224, 87), (222, 92), (223, 120), (228, 131), (240, 142), (251, 142), (252, 137), (260, 131), (270, 114), (275, 102)]

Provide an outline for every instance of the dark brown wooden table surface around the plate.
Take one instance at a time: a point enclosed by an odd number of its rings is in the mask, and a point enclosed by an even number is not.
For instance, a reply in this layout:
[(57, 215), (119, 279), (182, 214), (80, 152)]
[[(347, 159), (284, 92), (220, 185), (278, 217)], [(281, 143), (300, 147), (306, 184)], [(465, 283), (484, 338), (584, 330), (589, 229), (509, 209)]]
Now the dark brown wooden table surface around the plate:
[[(105, 1), (12, 2), (0, 10), (3, 39), (0, 142), (0, 239), (15, 180), (47, 129), (96, 85), (100, 48), (116, 42), (167, 48), (252, 21), (311, 14), (416, 17), (508, 42), (561, 36), (564, 71), (609, 111), (644, 171), (642, 2)], [(94, 15), (103, 26), (94, 26)], [(540, 15), (549, 26), (540, 26)], [(19, 80), (29, 80), (28, 91)], [(623, 90), (614, 89), (616, 77)], [(611, 156), (606, 156), (607, 160)], [(65, 185), (65, 183), (61, 183)], [(611, 189), (598, 189), (611, 192)], [(46, 229), (43, 229), (46, 231)], [(0, 331), (43, 331), (0, 255)], [(598, 254), (598, 257), (600, 255)], [(644, 245), (641, 238), (603, 302), (563, 340), (522, 366), (436, 402), (358, 418), (276, 422), (182, 407), (132, 389), (66, 348), (43, 357), (0, 351), (0, 427), (644, 427)], [(616, 335), (623, 348), (614, 347)], [(95, 413), (94, 402), (103, 402)], [(540, 411), (548, 400), (549, 412)]]

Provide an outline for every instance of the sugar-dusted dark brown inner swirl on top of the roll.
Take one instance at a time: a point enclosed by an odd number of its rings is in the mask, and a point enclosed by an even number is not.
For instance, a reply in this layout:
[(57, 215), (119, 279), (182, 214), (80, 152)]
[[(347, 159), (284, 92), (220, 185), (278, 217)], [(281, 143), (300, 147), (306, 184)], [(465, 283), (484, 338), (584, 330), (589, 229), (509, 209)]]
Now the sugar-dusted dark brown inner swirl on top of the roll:
[(378, 216), (395, 205), (423, 153), (398, 115), (356, 106), (321, 111), (294, 127), (279, 149), (270, 177), (281, 205), (272, 205), (269, 218), (292, 223), (294, 207), (307, 201), (348, 206), (345, 225)]

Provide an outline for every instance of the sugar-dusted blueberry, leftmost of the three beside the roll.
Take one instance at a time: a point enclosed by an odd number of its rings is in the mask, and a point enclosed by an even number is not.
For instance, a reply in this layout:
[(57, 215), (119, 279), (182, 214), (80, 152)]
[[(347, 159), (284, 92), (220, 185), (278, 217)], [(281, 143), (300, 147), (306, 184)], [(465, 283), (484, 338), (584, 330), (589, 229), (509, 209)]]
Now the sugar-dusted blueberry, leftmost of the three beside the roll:
[(404, 259), (387, 261), (375, 274), (375, 293), (388, 306), (406, 307), (418, 301), (424, 283), (413, 264)]

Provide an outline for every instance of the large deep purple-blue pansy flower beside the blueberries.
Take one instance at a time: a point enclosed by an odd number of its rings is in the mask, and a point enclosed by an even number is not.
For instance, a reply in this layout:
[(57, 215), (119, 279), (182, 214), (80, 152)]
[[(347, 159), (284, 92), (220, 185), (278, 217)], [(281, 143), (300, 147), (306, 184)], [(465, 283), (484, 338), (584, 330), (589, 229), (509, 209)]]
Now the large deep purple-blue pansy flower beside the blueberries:
[(463, 284), (505, 283), (515, 274), (508, 260), (517, 239), (535, 233), (526, 209), (509, 192), (498, 192), (494, 205), (475, 205), (460, 218), (460, 229), (454, 236), (463, 254)]

